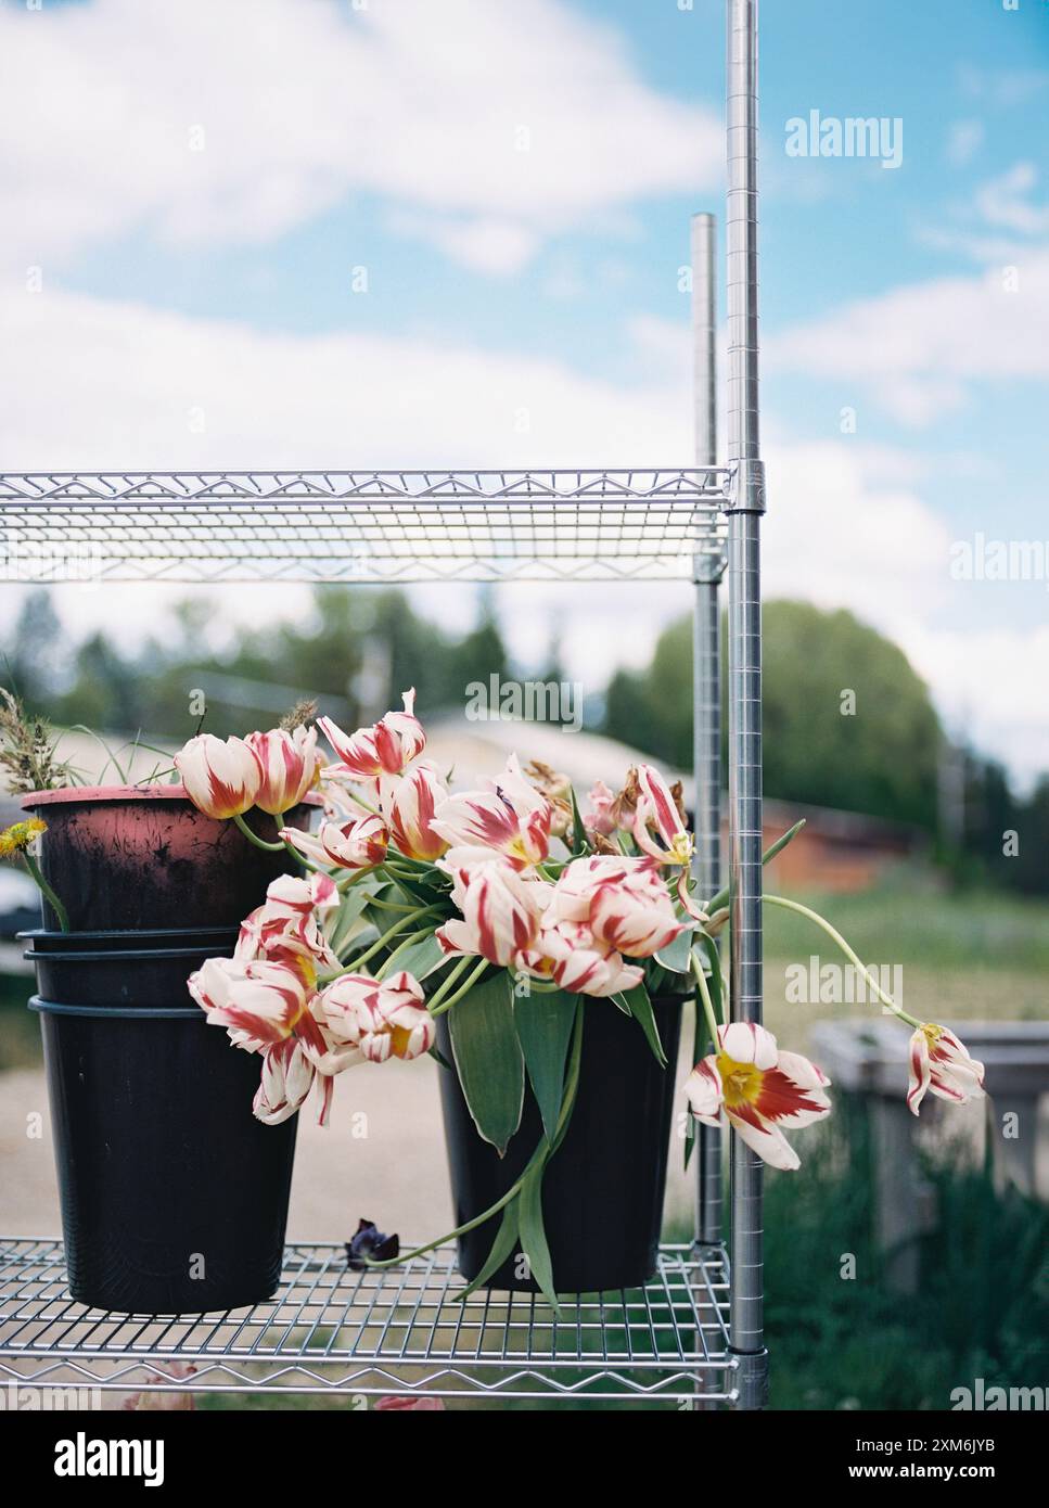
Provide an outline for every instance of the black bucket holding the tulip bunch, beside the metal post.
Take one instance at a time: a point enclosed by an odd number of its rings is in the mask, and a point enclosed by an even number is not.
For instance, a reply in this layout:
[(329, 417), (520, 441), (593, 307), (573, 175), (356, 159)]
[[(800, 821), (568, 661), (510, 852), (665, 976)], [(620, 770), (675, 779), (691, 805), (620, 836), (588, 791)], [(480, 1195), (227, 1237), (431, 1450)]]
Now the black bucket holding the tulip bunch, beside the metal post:
[[(543, 1221), (559, 1292), (636, 1288), (656, 1271), (681, 1004), (678, 995), (653, 1001), (671, 1060), (666, 1069), (656, 1062), (638, 1022), (610, 1000), (585, 1004), (576, 1108), (543, 1175)], [(445, 1016), (437, 1021), (437, 1044), (451, 1063)], [(440, 1086), (455, 1223), (464, 1224), (520, 1176), (540, 1145), (543, 1123), (526, 1087), (520, 1128), (500, 1158), (478, 1136), (454, 1069), (442, 1071)], [(499, 1217), (493, 1217), (460, 1237), (458, 1267), (464, 1277), (473, 1279), (481, 1271), (497, 1229)], [(488, 1286), (535, 1291), (535, 1283), (518, 1277), (515, 1267), (520, 1267), (517, 1252)]]

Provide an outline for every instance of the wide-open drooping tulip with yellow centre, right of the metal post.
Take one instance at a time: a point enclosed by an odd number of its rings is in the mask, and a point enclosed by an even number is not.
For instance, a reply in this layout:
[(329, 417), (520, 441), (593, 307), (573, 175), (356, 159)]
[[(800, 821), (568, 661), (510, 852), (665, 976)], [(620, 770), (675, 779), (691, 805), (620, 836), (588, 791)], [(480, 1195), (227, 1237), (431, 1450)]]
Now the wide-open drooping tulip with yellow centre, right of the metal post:
[(689, 1074), (684, 1092), (696, 1120), (728, 1122), (751, 1151), (772, 1167), (793, 1170), (797, 1152), (784, 1131), (830, 1113), (830, 1080), (799, 1053), (782, 1053), (772, 1031), (746, 1021), (717, 1028), (717, 1053)]

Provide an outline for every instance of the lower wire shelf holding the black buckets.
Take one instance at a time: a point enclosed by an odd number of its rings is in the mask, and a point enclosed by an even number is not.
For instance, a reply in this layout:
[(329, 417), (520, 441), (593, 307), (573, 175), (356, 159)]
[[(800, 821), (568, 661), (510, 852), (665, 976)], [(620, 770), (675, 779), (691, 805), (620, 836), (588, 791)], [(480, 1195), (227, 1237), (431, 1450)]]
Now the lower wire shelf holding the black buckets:
[(0, 1238), (0, 1377), (104, 1392), (736, 1401), (720, 1249), (665, 1246), (645, 1288), (567, 1297), (556, 1315), (540, 1295), (460, 1300), (463, 1286), (454, 1247), (354, 1273), (344, 1246), (289, 1246), (267, 1303), (119, 1315), (69, 1297), (60, 1241)]

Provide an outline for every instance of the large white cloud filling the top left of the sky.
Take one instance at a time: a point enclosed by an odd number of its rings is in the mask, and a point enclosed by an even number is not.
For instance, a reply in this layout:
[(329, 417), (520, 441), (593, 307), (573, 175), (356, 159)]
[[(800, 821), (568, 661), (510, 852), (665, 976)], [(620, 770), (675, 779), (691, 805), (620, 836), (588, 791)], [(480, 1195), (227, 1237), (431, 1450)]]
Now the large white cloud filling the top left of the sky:
[(142, 229), (265, 241), (353, 195), (514, 271), (541, 238), (711, 185), (717, 118), (559, 0), (93, 0), (0, 9), (12, 265)]

